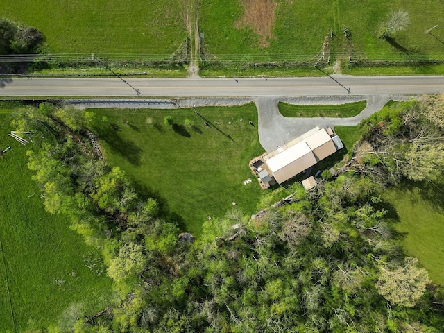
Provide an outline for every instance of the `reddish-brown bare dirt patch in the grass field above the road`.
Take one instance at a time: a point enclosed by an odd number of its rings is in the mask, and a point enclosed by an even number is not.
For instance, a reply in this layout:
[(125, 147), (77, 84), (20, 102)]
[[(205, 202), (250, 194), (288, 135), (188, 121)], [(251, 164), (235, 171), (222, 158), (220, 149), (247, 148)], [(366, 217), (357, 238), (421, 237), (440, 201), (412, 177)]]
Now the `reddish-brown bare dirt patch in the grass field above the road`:
[(259, 35), (259, 46), (270, 45), (273, 38), (273, 23), (275, 20), (275, 3), (273, 0), (239, 0), (244, 6), (244, 15), (234, 22), (236, 28), (246, 26)]

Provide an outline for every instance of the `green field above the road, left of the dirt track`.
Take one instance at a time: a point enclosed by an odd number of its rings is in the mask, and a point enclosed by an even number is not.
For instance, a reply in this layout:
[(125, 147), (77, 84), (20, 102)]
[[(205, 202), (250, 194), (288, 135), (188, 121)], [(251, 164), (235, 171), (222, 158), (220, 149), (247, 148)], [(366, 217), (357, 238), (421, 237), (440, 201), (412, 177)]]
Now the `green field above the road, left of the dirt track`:
[(34, 26), (52, 53), (175, 52), (185, 40), (181, 1), (0, 0), (0, 17)]

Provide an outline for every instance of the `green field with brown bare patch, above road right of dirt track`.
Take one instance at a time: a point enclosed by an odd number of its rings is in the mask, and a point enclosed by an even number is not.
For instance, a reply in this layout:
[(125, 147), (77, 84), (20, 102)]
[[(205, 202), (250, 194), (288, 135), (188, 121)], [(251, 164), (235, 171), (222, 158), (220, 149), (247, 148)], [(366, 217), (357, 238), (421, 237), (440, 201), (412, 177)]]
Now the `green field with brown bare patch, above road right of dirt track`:
[[(394, 35), (398, 43), (394, 47), (379, 39), (377, 31), (397, 10), (409, 12), (410, 23)], [(296, 59), (294, 53), (302, 60), (317, 60), (330, 30), (334, 31), (332, 60), (342, 53), (347, 59), (438, 59), (444, 54), (442, 14), (441, 0), (375, 0), (359, 6), (353, 0), (215, 0), (200, 4), (199, 26), (207, 50), (216, 56), (230, 55), (229, 60), (248, 60), (244, 55), (250, 53), (257, 54), (253, 61), (278, 59), (277, 53), (293, 53), (282, 60)], [(427, 35), (425, 31), (436, 24), (435, 37)]]

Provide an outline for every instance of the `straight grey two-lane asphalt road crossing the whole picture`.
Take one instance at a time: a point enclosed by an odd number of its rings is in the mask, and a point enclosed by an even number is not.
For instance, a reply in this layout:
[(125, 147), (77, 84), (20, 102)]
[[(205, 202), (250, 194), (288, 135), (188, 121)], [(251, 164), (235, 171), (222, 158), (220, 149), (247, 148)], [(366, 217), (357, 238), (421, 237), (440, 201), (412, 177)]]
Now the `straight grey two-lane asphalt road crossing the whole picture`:
[(436, 94), (444, 76), (0, 78), (1, 96), (249, 97)]

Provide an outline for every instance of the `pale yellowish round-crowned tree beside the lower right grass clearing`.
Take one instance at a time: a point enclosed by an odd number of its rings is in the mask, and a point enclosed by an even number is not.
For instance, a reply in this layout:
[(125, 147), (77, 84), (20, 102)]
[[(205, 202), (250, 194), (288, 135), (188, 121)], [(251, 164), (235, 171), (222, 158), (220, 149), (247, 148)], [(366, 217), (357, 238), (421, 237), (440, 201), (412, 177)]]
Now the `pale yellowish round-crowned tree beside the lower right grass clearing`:
[(379, 267), (376, 288), (379, 293), (393, 304), (413, 307), (425, 293), (429, 275), (424, 268), (417, 268), (418, 259), (407, 257), (404, 266), (394, 269)]

